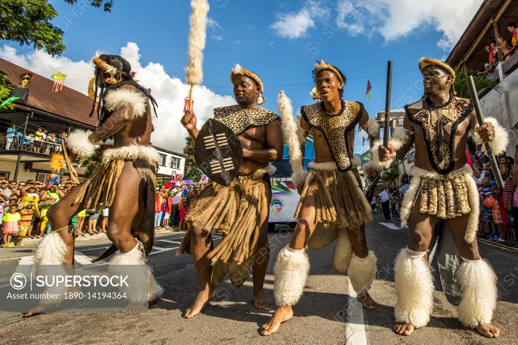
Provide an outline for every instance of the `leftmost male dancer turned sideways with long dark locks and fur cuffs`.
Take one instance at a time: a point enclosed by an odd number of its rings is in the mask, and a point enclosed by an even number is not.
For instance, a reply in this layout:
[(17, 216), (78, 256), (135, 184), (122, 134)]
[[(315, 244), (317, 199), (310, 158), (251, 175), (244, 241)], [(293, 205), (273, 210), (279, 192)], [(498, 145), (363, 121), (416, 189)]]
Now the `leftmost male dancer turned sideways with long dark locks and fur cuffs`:
[[(76, 129), (70, 133), (67, 147), (70, 155), (85, 158), (100, 153), (98, 149), (102, 145), (103, 165), (49, 209), (47, 217), (52, 232), (35, 249), (37, 265), (73, 264), (74, 233), (69, 221), (79, 210), (97, 208), (101, 202), (110, 208), (107, 235), (116, 246), (108, 249), (102, 258), (119, 250), (109, 265), (146, 265), (146, 256), (153, 246), (154, 186), (159, 155), (150, 146), (153, 125), (148, 100), (153, 110), (156, 102), (133, 80), (130, 63), (121, 56), (102, 54), (94, 57), (93, 63), (96, 94), (97, 87), (101, 87), (97, 107), (100, 126), (94, 132)], [(94, 103), (92, 114), (95, 108)], [(103, 145), (111, 136), (112, 146)], [(131, 304), (123, 312), (146, 308), (162, 293), (151, 269), (148, 277), (139, 278), (143, 279), (130, 284), (132, 289), (127, 292), (127, 298)]]

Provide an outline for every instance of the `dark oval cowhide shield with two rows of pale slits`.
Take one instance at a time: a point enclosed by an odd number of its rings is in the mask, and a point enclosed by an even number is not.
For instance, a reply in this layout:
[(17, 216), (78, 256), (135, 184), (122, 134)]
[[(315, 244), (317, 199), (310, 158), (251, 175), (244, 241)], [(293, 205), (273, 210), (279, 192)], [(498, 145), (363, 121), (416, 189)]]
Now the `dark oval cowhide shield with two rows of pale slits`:
[(228, 187), (243, 162), (241, 141), (232, 129), (210, 118), (196, 138), (194, 159), (212, 181)]

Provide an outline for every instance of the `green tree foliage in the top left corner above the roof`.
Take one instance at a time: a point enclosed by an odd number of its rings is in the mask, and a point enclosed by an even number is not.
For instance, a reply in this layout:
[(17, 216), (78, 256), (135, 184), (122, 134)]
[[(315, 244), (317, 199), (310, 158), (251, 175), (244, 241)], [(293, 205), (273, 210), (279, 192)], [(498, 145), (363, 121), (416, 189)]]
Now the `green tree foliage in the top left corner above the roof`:
[[(77, 0), (64, 0), (76, 4)], [(89, 0), (90, 6), (110, 12), (113, 0)], [(42, 49), (50, 55), (61, 55), (64, 31), (51, 20), (57, 11), (47, 0), (10, 0), (0, 2), (0, 40), (15, 41)]]

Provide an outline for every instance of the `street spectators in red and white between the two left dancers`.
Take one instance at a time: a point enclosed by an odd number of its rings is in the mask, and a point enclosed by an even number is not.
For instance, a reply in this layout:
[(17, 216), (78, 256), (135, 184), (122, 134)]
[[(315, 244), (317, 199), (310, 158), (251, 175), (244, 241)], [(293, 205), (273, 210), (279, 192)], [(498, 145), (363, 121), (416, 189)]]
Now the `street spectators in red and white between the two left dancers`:
[(155, 193), (155, 229), (178, 227), (186, 231), (189, 224), (185, 215), (192, 203), (203, 190), (203, 185), (184, 185), (180, 182), (174, 185), (161, 185)]

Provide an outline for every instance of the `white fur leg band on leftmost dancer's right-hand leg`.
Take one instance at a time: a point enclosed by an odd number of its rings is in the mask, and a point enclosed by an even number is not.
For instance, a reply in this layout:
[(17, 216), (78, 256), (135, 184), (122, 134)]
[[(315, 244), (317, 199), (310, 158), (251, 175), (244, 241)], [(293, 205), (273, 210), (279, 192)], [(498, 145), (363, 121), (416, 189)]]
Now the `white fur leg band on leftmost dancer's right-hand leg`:
[[(128, 276), (128, 287), (121, 287), (130, 302), (153, 301), (163, 293), (162, 287), (153, 277), (151, 267), (146, 265), (146, 256), (142, 244), (127, 253), (117, 253), (110, 260), (109, 271)], [(131, 265), (142, 265), (142, 269), (134, 269)]]

